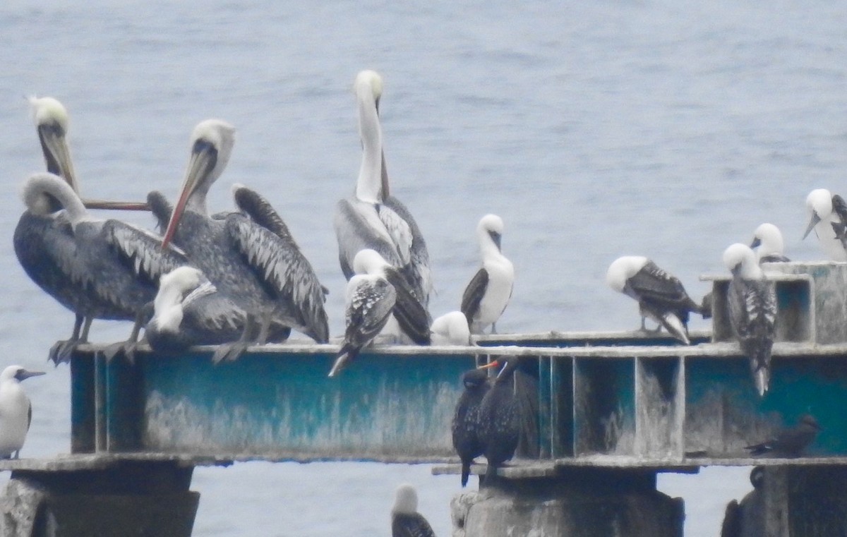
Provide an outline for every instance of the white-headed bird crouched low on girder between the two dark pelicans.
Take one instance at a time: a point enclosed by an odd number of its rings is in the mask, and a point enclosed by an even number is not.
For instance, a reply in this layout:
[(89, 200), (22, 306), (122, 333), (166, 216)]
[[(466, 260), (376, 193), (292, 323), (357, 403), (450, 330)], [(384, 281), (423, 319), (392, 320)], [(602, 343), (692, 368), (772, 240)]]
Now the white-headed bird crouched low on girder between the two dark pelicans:
[[(228, 343), (238, 340), (244, 331), (244, 311), (189, 265), (162, 276), (153, 310), (144, 335), (158, 352)], [(272, 324), (268, 337), (285, 340), (290, 333), (291, 328)]]

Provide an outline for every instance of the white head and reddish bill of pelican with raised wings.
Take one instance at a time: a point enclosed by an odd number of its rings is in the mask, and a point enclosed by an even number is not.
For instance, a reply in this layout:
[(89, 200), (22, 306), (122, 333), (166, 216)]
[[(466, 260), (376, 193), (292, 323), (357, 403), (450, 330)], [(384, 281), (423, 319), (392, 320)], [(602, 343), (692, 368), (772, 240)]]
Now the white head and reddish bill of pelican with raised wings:
[(186, 207), (208, 215), (206, 194), (230, 161), (235, 144), (235, 127), (220, 119), (206, 119), (191, 133), (191, 156), (185, 169), (180, 197), (165, 230), (162, 247), (168, 246)]

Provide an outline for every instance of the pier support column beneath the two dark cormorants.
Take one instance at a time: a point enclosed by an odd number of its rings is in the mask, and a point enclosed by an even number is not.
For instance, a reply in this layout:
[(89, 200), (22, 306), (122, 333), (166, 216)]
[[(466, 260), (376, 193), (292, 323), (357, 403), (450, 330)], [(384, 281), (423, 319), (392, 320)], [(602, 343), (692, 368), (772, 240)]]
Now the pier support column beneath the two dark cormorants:
[(656, 473), (569, 468), (496, 479), (451, 502), (453, 537), (682, 537), (684, 503), (656, 490)]

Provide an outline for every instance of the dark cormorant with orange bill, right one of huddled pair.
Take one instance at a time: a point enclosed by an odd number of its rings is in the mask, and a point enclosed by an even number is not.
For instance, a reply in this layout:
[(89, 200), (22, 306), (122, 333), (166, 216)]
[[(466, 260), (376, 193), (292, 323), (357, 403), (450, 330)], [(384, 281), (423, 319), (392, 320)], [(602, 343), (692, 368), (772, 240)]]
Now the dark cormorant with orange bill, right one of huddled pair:
[[(506, 365), (497, 374), (494, 385), (479, 404), (479, 424), (484, 441), (484, 456), (488, 461), (485, 479), (495, 477), (497, 468), (508, 461), (518, 449), (521, 420), (520, 403), (515, 396), (514, 373), (518, 357), (507, 357)], [(495, 360), (483, 368), (496, 368), (503, 360)]]

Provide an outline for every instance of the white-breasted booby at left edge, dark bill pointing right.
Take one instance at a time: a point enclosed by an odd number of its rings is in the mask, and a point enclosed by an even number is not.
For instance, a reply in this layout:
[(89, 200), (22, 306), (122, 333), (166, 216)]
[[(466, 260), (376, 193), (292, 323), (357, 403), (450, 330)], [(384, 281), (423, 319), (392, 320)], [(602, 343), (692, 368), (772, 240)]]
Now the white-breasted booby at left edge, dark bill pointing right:
[(0, 458), (18, 458), (32, 422), (32, 404), (20, 382), (44, 374), (10, 365), (0, 373)]

